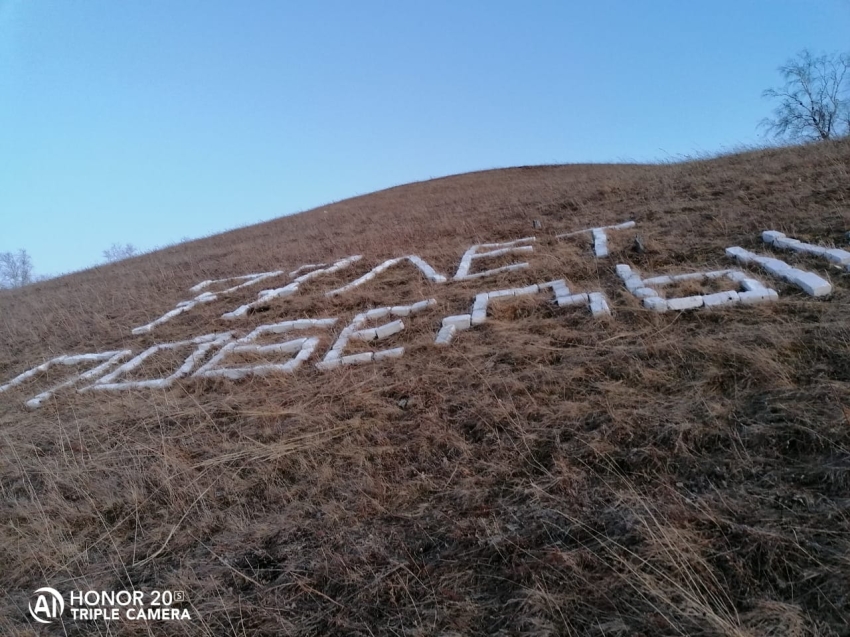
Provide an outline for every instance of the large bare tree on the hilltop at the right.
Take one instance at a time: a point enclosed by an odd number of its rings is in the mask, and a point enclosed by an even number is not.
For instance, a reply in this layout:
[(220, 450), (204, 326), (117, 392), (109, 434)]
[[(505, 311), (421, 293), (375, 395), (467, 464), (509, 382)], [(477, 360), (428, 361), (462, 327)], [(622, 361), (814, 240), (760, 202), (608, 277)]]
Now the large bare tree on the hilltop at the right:
[(834, 139), (850, 132), (850, 54), (813, 57), (803, 51), (780, 66), (779, 72), (785, 85), (762, 93), (779, 100), (773, 118), (762, 121), (769, 134), (802, 141)]

